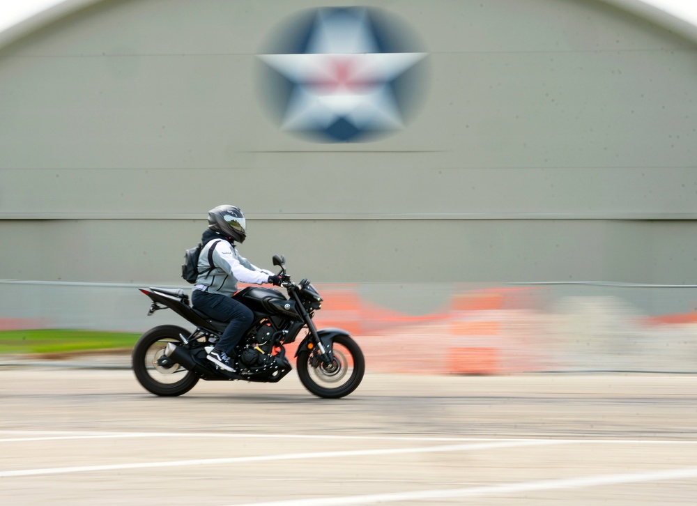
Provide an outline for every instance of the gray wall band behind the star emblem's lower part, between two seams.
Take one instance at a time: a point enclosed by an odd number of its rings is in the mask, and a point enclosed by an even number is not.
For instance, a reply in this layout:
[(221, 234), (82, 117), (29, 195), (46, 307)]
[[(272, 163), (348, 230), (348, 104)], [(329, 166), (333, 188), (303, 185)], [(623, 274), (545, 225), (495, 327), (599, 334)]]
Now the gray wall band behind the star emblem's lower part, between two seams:
[[(249, 167), (267, 151), (321, 151), (308, 160), (318, 166), (334, 151), (354, 165), (365, 156), (346, 152), (425, 151), (436, 167), (694, 168), (696, 54), (432, 55), (417, 121), (359, 146), (278, 132), (254, 93), (253, 56), (31, 59), (31, 70), (13, 57), (0, 65), (0, 168)], [(137, 76), (109, 75), (129, 65)]]

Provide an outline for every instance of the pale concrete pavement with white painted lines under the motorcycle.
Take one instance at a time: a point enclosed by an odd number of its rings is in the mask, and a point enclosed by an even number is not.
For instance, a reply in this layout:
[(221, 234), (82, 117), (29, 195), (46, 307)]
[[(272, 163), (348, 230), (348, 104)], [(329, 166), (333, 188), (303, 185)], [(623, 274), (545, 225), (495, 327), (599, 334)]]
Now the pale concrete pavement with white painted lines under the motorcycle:
[(345, 399), (0, 367), (0, 503), (697, 502), (697, 376), (367, 374)]

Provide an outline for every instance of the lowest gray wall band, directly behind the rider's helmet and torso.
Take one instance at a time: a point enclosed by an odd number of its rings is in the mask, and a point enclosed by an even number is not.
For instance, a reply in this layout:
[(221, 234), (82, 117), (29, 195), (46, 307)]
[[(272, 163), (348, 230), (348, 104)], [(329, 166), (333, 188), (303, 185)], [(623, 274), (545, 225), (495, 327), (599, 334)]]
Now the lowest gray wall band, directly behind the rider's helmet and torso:
[[(7, 220), (0, 279), (183, 284), (205, 220)], [(695, 284), (694, 221), (250, 220), (240, 252), (316, 282)]]

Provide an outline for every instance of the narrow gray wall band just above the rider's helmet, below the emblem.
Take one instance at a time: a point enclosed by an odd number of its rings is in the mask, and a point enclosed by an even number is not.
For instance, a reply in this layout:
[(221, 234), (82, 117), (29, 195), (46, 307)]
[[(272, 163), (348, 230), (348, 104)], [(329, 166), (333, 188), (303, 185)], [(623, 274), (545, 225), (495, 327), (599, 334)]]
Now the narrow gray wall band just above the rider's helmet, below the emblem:
[(268, 155), (259, 157), (268, 160), (262, 167), (197, 171), (3, 169), (0, 217), (195, 219), (227, 201), (252, 219), (278, 220), (697, 217), (697, 171), (689, 167), (451, 169), (414, 167), (429, 155), (386, 153), (302, 167), (322, 158)]

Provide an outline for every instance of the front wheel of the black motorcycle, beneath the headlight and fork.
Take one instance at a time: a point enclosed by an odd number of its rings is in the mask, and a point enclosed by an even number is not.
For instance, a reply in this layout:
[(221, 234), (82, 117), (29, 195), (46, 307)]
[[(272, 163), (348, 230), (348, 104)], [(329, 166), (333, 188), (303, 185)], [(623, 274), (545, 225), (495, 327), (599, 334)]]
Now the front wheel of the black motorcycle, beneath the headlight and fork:
[(298, 377), (312, 394), (325, 399), (344, 397), (360, 385), (365, 359), (358, 344), (347, 335), (332, 338), (334, 361), (325, 364), (311, 350), (298, 353)]

